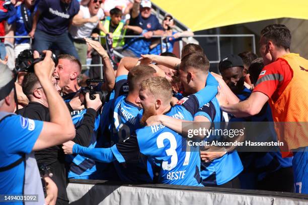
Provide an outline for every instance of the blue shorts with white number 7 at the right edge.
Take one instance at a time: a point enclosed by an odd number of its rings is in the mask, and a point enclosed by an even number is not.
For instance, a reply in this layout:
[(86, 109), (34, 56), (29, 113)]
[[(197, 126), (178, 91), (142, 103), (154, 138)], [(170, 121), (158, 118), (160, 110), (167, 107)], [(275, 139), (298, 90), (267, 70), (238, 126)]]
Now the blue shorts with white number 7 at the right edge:
[(308, 147), (293, 152), (292, 166), (296, 193), (308, 193)]

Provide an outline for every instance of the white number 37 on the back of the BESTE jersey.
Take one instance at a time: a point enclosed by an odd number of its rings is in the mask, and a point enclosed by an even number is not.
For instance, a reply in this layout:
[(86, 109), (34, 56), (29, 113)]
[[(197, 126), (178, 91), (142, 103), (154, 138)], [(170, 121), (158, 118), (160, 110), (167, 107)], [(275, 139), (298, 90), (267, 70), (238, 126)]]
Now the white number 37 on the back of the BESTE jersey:
[[(172, 133), (170, 133), (170, 132), (162, 133), (162, 134), (160, 134), (158, 136), (158, 138), (156, 140), (158, 148), (165, 147), (165, 145), (164, 145), (164, 140), (165, 139), (168, 139), (169, 142), (170, 142), (170, 148), (166, 150), (166, 154), (167, 154), (167, 156), (171, 156), (171, 162), (169, 164), (168, 161), (163, 161), (162, 168), (164, 170), (170, 171), (174, 167), (176, 167), (177, 163), (178, 163), (178, 154), (177, 154), (177, 151), (176, 151), (177, 140), (175, 139), (175, 136)], [(186, 156), (185, 156), (185, 160), (184, 160), (183, 166), (188, 165), (189, 157), (190, 157), (190, 152), (186, 152)]]

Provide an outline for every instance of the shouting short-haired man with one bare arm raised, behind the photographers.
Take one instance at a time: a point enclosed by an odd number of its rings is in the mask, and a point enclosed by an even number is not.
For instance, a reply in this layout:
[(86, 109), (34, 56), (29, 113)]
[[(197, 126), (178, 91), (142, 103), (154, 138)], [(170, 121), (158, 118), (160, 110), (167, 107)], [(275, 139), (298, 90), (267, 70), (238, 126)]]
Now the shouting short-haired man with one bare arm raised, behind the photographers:
[[(111, 91), (115, 84), (115, 75), (107, 52), (104, 50), (104, 48), (98, 41), (92, 41), (90, 39), (85, 39), (85, 40), (102, 57), (102, 61), (104, 64), (105, 82), (102, 83), (101, 89)], [(73, 118), (73, 123), (75, 124), (75, 127), (78, 127), (80, 125), (80, 123), (84, 118), (84, 114), (86, 113), (86, 110), (84, 110), (84, 108), (80, 106), (80, 100), (78, 96), (76, 96), (78, 95), (76, 94), (76, 92), (81, 89), (81, 87), (78, 85), (78, 81), (76, 80), (78, 73), (80, 74), (81, 72), (81, 66), (77, 67), (78, 62), (79, 61), (77, 60), (71, 60), (68, 58), (59, 57), (58, 66), (56, 67), (56, 71), (53, 73), (53, 75), (58, 79), (59, 81), (58, 84), (60, 85), (62, 90), (66, 91), (65, 92), (66, 95), (63, 96), (63, 99), (71, 107), (74, 108), (79, 107), (79, 109), (73, 109), (74, 112), (71, 112), (71, 117)], [(78, 68), (78, 73), (76, 72), (77, 68)], [(91, 147), (94, 147), (96, 145), (99, 124), (100, 124), (100, 114), (98, 114), (96, 117), (96, 124), (95, 124), (96, 126), (89, 145)], [(90, 175), (96, 172), (96, 164), (94, 160), (90, 160), (81, 156), (77, 156), (76, 159), (74, 160), (75, 157), (76, 156), (72, 155), (67, 156), (66, 161), (69, 162), (67, 164), (67, 166), (69, 167), (68, 178), (88, 179)], [(75, 163), (77, 159), (78, 161), (77, 163)]]

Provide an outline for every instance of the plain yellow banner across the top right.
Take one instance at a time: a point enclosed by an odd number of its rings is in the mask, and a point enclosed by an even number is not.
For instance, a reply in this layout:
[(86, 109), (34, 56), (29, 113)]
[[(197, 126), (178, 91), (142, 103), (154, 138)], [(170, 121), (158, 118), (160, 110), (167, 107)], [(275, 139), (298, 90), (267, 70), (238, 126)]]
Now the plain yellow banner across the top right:
[(308, 20), (308, 0), (152, 0), (192, 31), (278, 18)]

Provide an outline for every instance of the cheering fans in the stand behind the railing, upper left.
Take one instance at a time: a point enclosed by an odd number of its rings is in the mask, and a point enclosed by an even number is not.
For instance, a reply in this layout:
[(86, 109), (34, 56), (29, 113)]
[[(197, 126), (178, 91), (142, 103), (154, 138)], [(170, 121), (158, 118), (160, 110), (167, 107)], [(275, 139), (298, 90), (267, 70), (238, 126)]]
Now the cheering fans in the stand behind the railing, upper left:
[[(10, 50), (9, 58), (14, 60), (25, 49), (32, 48), (39, 52), (52, 49), (58, 54), (72, 55), (86, 65), (87, 58), (93, 57), (93, 49), (84, 38), (99, 40), (98, 37), (103, 36), (100, 40), (105, 47), (104, 36), (109, 34), (113, 40), (112, 47), (122, 55), (140, 57), (141, 54), (172, 52), (174, 43), (181, 36), (193, 35), (189, 31), (173, 31), (175, 23), (170, 14), (165, 16), (161, 25), (157, 17), (151, 14), (150, 1), (24, 0), (12, 1), (11, 4), (10, 1), (9, 4), (1, 1), (0, 5), (4, 6), (2, 11), (6, 14), (0, 19), (2, 36), (32, 38), (31, 43), (29, 38), (7, 38), (6, 44), (1, 44), (2, 60), (6, 50)], [(125, 35), (140, 35), (142, 38), (124, 38)], [(152, 38), (153, 35), (166, 36), (163, 38), (163, 48), (161, 39)], [(97, 63), (94, 57), (92, 64)], [(85, 71), (86, 66), (83, 67)], [(86, 75), (89, 73), (86, 72)]]

